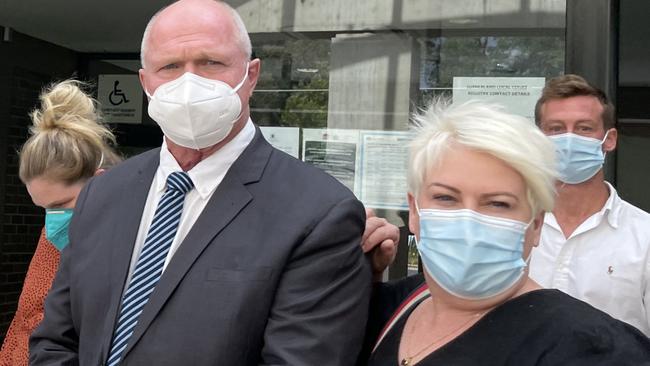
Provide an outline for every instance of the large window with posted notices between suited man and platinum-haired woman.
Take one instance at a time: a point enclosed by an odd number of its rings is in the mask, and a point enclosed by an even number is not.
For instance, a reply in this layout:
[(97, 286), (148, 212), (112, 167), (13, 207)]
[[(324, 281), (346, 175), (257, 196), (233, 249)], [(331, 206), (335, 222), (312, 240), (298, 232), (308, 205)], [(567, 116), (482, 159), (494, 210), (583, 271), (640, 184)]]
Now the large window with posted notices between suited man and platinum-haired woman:
[(406, 225), (410, 113), (451, 96), (454, 78), (502, 78), (495, 87), (537, 78), (541, 89), (564, 72), (565, 0), (249, 1), (238, 10), (262, 60), (253, 121), (402, 226), (391, 277), (417, 268)]

